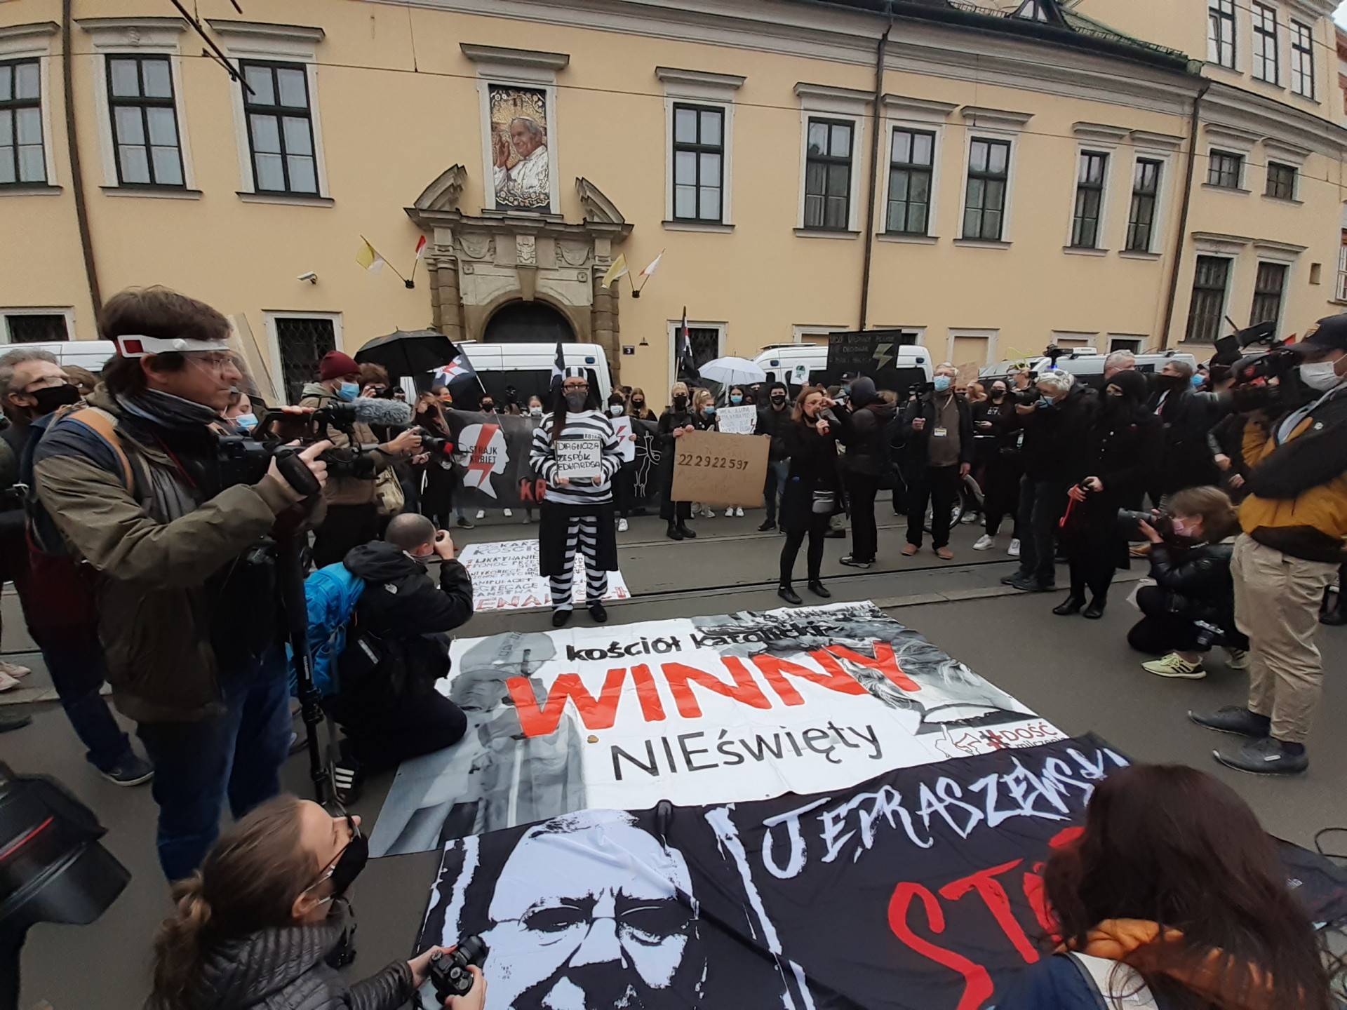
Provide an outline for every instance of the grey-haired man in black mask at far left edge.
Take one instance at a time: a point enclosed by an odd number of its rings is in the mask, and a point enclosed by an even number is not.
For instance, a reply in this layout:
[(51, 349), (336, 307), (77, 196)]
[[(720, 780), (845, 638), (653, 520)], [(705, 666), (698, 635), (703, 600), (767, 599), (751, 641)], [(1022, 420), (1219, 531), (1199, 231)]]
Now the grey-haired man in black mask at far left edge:
[[(42, 650), (42, 660), (75, 735), (88, 749), (89, 762), (117, 785), (139, 785), (154, 768), (131, 747), (131, 739), (108, 708), (100, 691), (104, 681), (102, 645), (93, 621), (86, 583), (74, 578), (73, 563), (54, 529), (47, 536), (35, 528), (34, 555), (28, 552), (28, 521), (24, 487), (32, 486), (32, 452), (55, 412), (79, 401), (57, 357), (39, 347), (16, 347), (0, 357), (0, 407), (9, 427), (0, 432), (0, 486), (5, 489), (0, 510), (0, 579), (12, 580), (19, 593), (28, 634)], [(40, 521), (40, 510), (34, 523)], [(47, 553), (43, 548), (55, 553)], [(89, 606), (85, 606), (89, 603)], [(13, 675), (0, 663), (0, 681)]]

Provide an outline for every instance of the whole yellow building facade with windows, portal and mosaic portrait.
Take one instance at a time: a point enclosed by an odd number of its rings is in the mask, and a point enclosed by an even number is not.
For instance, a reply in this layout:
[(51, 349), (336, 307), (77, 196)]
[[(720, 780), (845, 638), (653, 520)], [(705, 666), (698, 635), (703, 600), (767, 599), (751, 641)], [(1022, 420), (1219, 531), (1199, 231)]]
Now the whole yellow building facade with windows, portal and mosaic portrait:
[[(1208, 0), (241, 5), (0, 3), (0, 337), (166, 284), (291, 381), (435, 326), (594, 341), (661, 401), (684, 310), (699, 357), (981, 364), (1340, 307), (1328, 0), (1210, 0), (1228, 46)], [(620, 255), (661, 257), (640, 298)]]

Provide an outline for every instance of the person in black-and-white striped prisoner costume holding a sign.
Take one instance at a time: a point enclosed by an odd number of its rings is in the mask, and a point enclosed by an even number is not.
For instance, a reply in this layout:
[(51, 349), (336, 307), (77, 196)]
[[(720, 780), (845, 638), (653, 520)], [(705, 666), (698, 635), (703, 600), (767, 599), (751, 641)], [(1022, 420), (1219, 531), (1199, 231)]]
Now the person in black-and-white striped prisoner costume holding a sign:
[[(528, 462), (547, 482), (537, 524), (539, 574), (551, 580), (552, 628), (571, 619), (575, 555), (585, 556), (585, 606), (598, 624), (607, 621), (603, 597), (607, 574), (617, 571), (617, 535), (613, 518), (613, 475), (622, 466), (622, 450), (613, 422), (598, 408), (583, 368), (568, 368), (552, 393), (552, 412), (533, 430)], [(563, 473), (559, 447), (591, 443), (598, 452), (597, 473)]]

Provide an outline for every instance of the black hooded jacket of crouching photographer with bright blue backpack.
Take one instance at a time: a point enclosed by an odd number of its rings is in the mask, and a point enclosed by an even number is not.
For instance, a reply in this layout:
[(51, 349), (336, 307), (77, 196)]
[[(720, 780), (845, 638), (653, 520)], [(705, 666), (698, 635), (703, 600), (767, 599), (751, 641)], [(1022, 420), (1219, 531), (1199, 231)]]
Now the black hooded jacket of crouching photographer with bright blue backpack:
[(446, 642), (438, 636), (467, 624), (473, 615), (467, 570), (458, 562), (440, 562), (436, 586), (424, 567), (383, 540), (354, 548), (342, 563), (365, 580), (346, 648), (356, 646), (357, 633), (370, 634), (379, 640), (385, 661), (379, 676), (356, 684), (342, 677), (338, 718), (365, 715), (408, 694), (432, 691), (434, 683), (449, 673)]

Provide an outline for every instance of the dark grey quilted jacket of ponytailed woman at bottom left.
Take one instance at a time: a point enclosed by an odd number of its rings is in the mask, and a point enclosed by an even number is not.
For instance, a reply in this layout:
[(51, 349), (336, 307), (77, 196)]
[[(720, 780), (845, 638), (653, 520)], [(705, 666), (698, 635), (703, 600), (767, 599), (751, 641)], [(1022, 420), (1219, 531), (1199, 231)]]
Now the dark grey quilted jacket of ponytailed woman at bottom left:
[(339, 922), (263, 929), (211, 951), (187, 994), (187, 1010), (397, 1010), (412, 997), (412, 971), (393, 962), (356, 982), (323, 959)]

